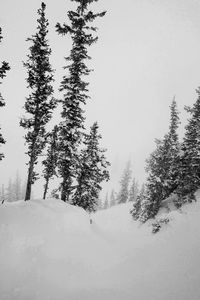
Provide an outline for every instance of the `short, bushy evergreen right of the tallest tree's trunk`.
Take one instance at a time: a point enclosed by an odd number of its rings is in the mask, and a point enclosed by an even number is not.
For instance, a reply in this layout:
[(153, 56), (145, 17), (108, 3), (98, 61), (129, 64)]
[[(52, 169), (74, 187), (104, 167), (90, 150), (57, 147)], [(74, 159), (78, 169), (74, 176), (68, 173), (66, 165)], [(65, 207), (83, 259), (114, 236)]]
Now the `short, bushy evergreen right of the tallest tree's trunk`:
[(72, 197), (72, 204), (81, 206), (88, 212), (94, 212), (98, 207), (101, 183), (109, 180), (107, 167), (110, 165), (105, 158), (105, 149), (99, 147), (101, 135), (98, 134), (98, 124), (95, 122), (90, 134), (85, 135), (85, 148), (81, 150), (77, 188)]

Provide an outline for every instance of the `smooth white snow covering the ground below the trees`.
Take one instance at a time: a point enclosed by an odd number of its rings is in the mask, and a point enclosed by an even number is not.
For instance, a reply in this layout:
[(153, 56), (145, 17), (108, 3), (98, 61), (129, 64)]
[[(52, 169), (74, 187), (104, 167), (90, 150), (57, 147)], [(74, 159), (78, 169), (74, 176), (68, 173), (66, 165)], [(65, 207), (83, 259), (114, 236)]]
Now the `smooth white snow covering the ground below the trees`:
[(130, 204), (90, 224), (60, 200), (4, 203), (0, 299), (199, 300), (199, 202), (171, 211), (157, 234), (132, 220)]

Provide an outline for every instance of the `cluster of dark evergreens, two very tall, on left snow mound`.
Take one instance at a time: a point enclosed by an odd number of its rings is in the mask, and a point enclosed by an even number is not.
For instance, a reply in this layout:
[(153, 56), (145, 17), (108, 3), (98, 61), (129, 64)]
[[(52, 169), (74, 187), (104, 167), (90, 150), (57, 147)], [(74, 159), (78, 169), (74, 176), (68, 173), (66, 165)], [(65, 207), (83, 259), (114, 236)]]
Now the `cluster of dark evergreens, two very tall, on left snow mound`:
[[(51, 48), (47, 38), (49, 22), (44, 3), (38, 10), (37, 32), (27, 39), (31, 46), (24, 66), (28, 73), (26, 80), (30, 93), (24, 105), (26, 115), (20, 121), (20, 125), (26, 129), (29, 157), (25, 200), (31, 198), (31, 187), (39, 176), (35, 167), (47, 148), (42, 162), (45, 179), (43, 198), (48, 192), (50, 179), (56, 175), (61, 181), (61, 200), (70, 201), (90, 212), (97, 207), (101, 182), (109, 179), (105, 150), (99, 147), (101, 136), (98, 124), (95, 122), (87, 134), (83, 110), (89, 98), (89, 83), (85, 78), (91, 72), (86, 65), (86, 60), (90, 59), (87, 48), (98, 39), (93, 34), (97, 28), (91, 23), (97, 17), (103, 17), (105, 12), (94, 14), (89, 9), (90, 4), (97, 0), (75, 1), (77, 8), (67, 13), (70, 24), (56, 25), (58, 34), (69, 34), (72, 39), (72, 49), (65, 57), (66, 74), (60, 85), (63, 94), (61, 100), (53, 97), (54, 70), (50, 64)], [(2, 68), (0, 75), (3, 78), (9, 67), (4, 63)], [(58, 104), (62, 105), (61, 121), (48, 132), (47, 124)]]

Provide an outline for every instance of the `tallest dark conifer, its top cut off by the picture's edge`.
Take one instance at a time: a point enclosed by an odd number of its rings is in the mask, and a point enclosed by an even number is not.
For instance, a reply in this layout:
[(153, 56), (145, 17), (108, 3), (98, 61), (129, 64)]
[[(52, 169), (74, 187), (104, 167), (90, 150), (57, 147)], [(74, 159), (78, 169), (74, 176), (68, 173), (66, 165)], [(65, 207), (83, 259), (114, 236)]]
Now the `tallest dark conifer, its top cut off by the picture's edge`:
[[(74, 1), (74, 0), (72, 0)], [(69, 34), (72, 38), (72, 49), (66, 57), (68, 74), (63, 77), (60, 91), (64, 93), (62, 102), (62, 122), (60, 124), (60, 155), (58, 160), (59, 174), (62, 177), (61, 199), (68, 201), (72, 191), (72, 184), (77, 175), (78, 152), (81, 144), (82, 130), (84, 129), (84, 116), (82, 105), (89, 98), (87, 92), (88, 82), (85, 76), (89, 75), (85, 61), (90, 59), (87, 47), (97, 41), (93, 36), (97, 28), (91, 26), (97, 17), (103, 17), (105, 12), (94, 14), (89, 5), (97, 0), (75, 0), (77, 8), (68, 12), (70, 25), (64, 23), (56, 25), (61, 35)]]

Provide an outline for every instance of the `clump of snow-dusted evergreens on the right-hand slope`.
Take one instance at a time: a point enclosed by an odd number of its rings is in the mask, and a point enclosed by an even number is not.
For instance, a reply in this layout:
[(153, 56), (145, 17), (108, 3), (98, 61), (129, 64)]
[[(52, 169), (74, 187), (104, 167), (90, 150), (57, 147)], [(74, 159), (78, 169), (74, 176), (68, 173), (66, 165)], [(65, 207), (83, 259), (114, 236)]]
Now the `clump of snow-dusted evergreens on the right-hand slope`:
[(173, 199), (176, 207), (195, 200), (195, 191), (200, 188), (200, 89), (197, 94), (196, 103), (187, 108), (190, 119), (182, 142), (177, 133), (177, 103), (172, 101), (169, 131), (156, 140), (156, 149), (147, 160), (147, 182), (131, 210), (135, 220), (154, 218), (167, 198)]

